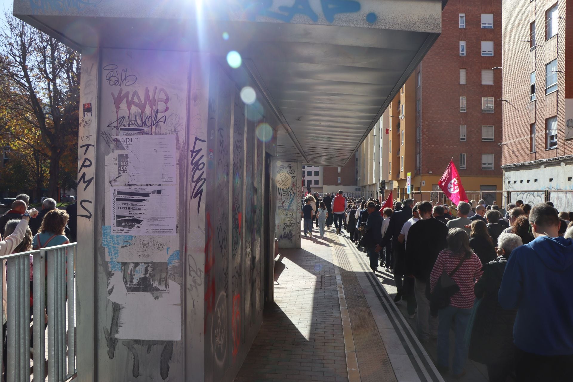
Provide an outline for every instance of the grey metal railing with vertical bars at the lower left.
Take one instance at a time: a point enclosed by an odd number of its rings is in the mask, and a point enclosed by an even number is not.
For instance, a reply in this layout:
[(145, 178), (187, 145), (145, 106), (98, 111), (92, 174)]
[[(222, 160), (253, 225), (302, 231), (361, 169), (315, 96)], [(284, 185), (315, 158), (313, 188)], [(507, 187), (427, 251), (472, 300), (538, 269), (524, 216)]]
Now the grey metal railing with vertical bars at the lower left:
[[(3, 346), (0, 346), (0, 372), (5, 372), (3, 380), (30, 382), (33, 377), (34, 382), (38, 382), (48, 377), (49, 382), (62, 382), (76, 376), (76, 245), (71, 243), (0, 257), (7, 286), (7, 355), (2, 354)], [(33, 259), (32, 293), (30, 256)], [(2, 284), (0, 296), (3, 296)], [(0, 299), (2, 312), (3, 304)], [(33, 369), (30, 368), (32, 359)]]

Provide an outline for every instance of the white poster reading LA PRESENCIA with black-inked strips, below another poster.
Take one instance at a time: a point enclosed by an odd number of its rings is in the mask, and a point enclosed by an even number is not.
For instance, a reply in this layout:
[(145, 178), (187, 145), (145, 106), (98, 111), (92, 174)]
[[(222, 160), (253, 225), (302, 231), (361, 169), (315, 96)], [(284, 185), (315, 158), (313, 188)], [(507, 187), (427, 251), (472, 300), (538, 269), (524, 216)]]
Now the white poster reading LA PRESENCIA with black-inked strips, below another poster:
[(177, 234), (175, 186), (111, 187), (110, 190), (112, 234)]

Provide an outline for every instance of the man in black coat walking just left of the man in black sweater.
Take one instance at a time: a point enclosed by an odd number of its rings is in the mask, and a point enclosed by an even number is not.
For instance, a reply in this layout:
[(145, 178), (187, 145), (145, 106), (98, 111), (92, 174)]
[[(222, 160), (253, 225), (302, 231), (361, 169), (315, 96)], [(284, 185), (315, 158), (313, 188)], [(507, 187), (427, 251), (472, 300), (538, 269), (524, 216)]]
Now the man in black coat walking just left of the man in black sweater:
[[(404, 223), (412, 217), (412, 203), (412, 199), (404, 200), (402, 209), (392, 214), (386, 234), (384, 234), (384, 238), (380, 241), (379, 245), (376, 246), (376, 252), (379, 252), (387, 243), (392, 243), (390, 250), (394, 255), (394, 279), (396, 282), (396, 288), (398, 289), (398, 293), (396, 294), (394, 301), (400, 301), (404, 292), (402, 283), (402, 277), (405, 274), (403, 253), (404, 245), (398, 242), (398, 236), (400, 235), (400, 231), (402, 231)], [(412, 297), (414, 297), (413, 294)], [(408, 300), (408, 303), (411, 304), (411, 301)], [(415, 304), (415, 301), (413, 301), (413, 303)]]

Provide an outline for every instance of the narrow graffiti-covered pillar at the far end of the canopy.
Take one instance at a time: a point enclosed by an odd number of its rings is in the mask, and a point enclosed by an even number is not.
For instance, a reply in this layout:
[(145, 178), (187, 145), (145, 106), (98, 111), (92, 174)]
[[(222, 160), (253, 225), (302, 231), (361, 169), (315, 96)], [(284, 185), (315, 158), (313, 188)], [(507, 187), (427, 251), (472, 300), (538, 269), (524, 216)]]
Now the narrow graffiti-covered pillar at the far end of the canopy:
[(279, 248), (300, 248), (300, 211), (303, 198), (303, 165), (276, 160), (277, 238)]

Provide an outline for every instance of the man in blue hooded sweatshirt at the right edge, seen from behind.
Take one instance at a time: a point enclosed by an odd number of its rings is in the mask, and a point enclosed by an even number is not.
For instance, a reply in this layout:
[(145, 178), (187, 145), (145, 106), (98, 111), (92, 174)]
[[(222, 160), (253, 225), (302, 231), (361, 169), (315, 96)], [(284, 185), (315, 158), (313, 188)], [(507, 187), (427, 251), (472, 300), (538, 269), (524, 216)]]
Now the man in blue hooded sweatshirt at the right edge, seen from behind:
[(573, 240), (558, 237), (555, 208), (529, 213), (533, 240), (509, 256), (498, 298), (517, 308), (516, 381), (573, 379)]

